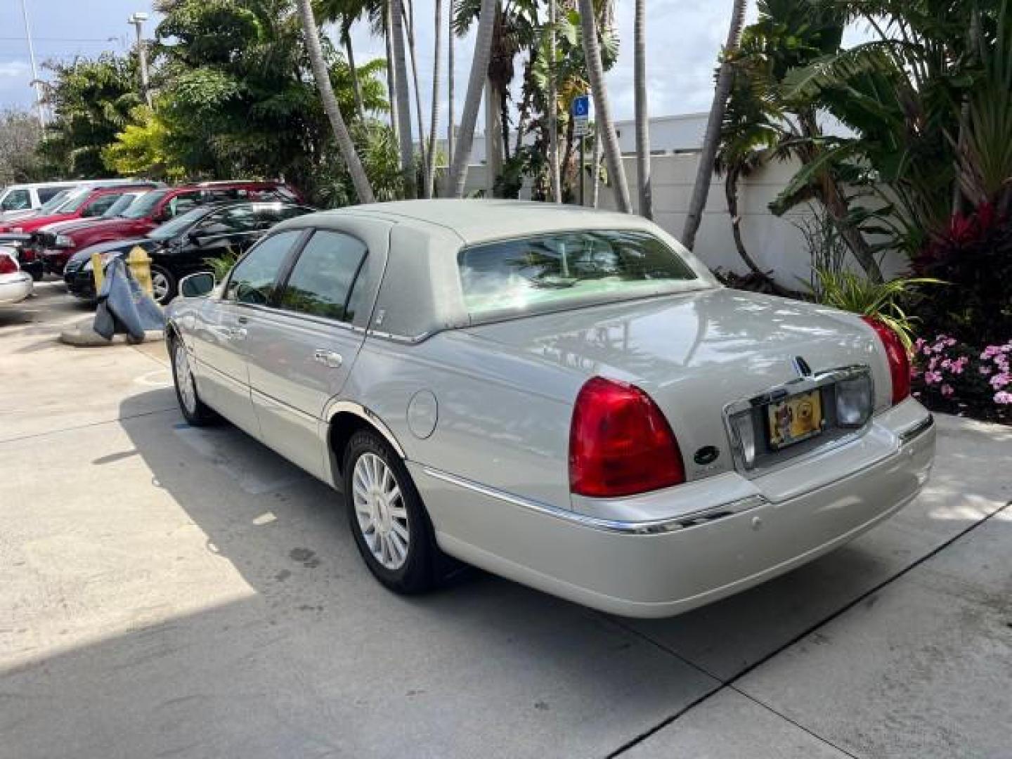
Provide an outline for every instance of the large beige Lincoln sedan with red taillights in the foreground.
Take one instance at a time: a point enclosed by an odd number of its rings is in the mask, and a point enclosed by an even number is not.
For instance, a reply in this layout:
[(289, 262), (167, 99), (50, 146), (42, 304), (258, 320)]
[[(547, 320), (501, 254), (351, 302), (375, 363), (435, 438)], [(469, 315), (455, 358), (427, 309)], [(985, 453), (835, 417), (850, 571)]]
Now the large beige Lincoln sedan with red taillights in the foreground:
[(166, 339), (186, 420), (221, 415), (343, 490), (400, 592), (445, 554), (604, 611), (679, 613), (877, 524), (934, 457), (895, 333), (723, 287), (630, 215), (313, 214), (181, 291)]

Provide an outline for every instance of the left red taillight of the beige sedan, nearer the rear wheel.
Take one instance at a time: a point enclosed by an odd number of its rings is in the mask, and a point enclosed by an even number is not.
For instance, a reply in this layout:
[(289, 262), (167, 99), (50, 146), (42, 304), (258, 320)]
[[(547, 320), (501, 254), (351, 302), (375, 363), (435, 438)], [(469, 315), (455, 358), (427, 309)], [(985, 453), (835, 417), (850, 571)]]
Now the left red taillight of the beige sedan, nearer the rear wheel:
[(671, 427), (634, 385), (592, 377), (580, 390), (570, 427), (570, 489), (607, 498), (685, 482)]

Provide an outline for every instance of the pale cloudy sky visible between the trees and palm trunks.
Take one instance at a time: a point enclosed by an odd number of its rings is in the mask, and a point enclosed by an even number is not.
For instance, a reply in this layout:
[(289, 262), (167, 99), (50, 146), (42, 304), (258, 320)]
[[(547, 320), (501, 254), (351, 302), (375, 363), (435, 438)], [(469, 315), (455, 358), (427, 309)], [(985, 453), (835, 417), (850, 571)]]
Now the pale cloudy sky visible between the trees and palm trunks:
[[(125, 52), (134, 41), (134, 27), (126, 23), (132, 12), (152, 13), (153, 20), (146, 27), (148, 35), (154, 33), (157, 20), (151, 0), (25, 0), (25, 4), (44, 79), (46, 61), (72, 62), (77, 56), (93, 57), (103, 50)], [(445, 13), (449, 2), (445, 0), (442, 4)], [(647, 77), (651, 115), (709, 109), (713, 68), (727, 35), (732, 5), (732, 0), (649, 0)], [(426, 124), (432, 89), (432, 0), (415, 0), (419, 79)], [(621, 120), (632, 117), (632, 1), (616, 0), (615, 8), (620, 51), (607, 81), (613, 117)], [(754, 3), (750, 3), (750, 18), (754, 14)], [(443, 34), (443, 56), (445, 38)], [(364, 24), (356, 26), (352, 39), (359, 64), (385, 55), (383, 39), (372, 37)], [(454, 101), (458, 121), (473, 52), (470, 38), (457, 40)], [(445, 128), (445, 58), (443, 61), (440, 122)], [(34, 99), (31, 79), (20, 0), (0, 0), (0, 109), (31, 107)], [(519, 73), (516, 79), (519, 81)]]

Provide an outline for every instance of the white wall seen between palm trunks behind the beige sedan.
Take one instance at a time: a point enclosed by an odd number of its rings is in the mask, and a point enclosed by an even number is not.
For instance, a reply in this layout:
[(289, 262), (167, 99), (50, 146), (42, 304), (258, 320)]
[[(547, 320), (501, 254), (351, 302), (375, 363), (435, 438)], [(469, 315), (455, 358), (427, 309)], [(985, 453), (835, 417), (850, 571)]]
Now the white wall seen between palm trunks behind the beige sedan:
[[(638, 210), (636, 159), (626, 157), (623, 162), (634, 210)], [(654, 221), (675, 238), (680, 238), (682, 234), (697, 165), (698, 154), (654, 156), (651, 159)], [(740, 183), (738, 202), (746, 250), (760, 267), (772, 270), (777, 281), (793, 288), (800, 284), (798, 277), (806, 281), (809, 279), (811, 258), (795, 224), (810, 212), (806, 206), (797, 206), (778, 218), (770, 214), (767, 205), (795, 170), (796, 165), (792, 163), (774, 163), (763, 168)], [(471, 166), (467, 193), (484, 187), (485, 166)], [(589, 199), (589, 183), (586, 193)], [(599, 207), (617, 207), (611, 187), (601, 187)], [(694, 252), (710, 268), (722, 267), (739, 273), (747, 271), (735, 248), (723, 178), (713, 177)], [(905, 265), (898, 259), (888, 259), (882, 262), (882, 267), (889, 276), (902, 271)]]

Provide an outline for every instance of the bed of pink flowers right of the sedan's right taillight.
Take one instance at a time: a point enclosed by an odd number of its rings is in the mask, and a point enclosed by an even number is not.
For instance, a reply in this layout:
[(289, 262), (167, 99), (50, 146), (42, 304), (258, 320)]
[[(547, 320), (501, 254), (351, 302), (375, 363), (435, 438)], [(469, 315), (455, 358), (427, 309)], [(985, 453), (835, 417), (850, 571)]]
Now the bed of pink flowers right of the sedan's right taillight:
[(950, 335), (918, 338), (913, 395), (933, 411), (1012, 424), (1012, 340), (983, 349)]

